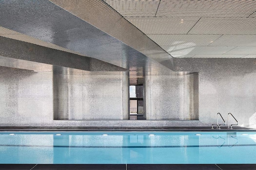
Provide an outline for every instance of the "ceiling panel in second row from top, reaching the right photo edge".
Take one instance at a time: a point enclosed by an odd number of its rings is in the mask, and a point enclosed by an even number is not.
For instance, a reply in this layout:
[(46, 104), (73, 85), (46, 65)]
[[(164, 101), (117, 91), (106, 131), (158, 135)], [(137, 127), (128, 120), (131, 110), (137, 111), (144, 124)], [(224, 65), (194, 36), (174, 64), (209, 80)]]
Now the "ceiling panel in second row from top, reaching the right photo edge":
[(190, 34), (256, 34), (256, 18), (201, 18)]

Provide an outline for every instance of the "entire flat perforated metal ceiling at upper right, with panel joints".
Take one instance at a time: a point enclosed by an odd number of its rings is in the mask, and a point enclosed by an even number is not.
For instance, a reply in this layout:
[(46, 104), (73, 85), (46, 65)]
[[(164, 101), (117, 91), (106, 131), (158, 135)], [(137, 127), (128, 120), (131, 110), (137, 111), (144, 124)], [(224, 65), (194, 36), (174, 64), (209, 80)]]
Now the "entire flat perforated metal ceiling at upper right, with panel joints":
[(256, 0), (104, 1), (173, 57), (256, 57)]

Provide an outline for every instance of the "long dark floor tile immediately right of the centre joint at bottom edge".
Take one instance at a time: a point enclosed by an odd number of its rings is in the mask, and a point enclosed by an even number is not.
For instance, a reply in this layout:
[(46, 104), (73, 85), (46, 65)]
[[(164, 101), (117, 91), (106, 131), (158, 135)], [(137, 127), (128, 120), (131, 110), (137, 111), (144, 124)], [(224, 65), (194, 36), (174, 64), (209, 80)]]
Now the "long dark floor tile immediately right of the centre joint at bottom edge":
[(215, 164), (127, 164), (127, 170), (220, 170)]

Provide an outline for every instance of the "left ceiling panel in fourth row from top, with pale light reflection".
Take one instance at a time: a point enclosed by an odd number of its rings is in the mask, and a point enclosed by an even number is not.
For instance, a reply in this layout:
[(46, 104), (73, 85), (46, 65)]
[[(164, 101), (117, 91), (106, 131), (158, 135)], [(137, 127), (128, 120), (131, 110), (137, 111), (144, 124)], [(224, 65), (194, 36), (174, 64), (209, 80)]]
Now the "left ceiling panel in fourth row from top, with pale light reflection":
[(215, 46), (177, 46), (170, 53), (173, 54), (223, 54), (235, 47), (215, 47)]

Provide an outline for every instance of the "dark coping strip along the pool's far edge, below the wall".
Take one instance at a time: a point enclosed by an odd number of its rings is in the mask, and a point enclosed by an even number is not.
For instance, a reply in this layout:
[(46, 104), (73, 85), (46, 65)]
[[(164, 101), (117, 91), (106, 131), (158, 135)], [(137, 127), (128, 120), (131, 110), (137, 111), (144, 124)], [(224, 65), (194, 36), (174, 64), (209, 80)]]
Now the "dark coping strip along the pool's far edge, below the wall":
[(248, 127), (221, 127), (222, 129), (211, 129), (211, 127), (0, 127), (0, 131), (256, 131)]

